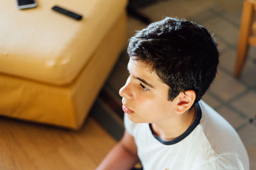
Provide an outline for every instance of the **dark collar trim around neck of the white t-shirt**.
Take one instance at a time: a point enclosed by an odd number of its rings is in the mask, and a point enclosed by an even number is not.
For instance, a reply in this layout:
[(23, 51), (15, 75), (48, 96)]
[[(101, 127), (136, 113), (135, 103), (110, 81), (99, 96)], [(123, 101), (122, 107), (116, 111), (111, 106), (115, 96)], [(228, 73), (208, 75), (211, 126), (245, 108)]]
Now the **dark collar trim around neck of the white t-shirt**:
[(152, 132), (153, 136), (157, 139), (157, 141), (163, 143), (164, 145), (173, 145), (175, 143), (180, 142), (182, 139), (186, 138), (195, 128), (196, 126), (200, 123), (201, 117), (202, 117), (202, 110), (200, 108), (200, 105), (196, 103), (196, 108), (197, 108), (197, 115), (195, 118), (195, 121), (193, 122), (192, 125), (189, 126), (186, 132), (181, 134), (178, 138), (173, 139), (172, 141), (164, 141), (163, 139), (159, 138), (155, 134), (153, 134), (153, 129), (151, 127), (151, 124), (149, 124), (150, 131)]

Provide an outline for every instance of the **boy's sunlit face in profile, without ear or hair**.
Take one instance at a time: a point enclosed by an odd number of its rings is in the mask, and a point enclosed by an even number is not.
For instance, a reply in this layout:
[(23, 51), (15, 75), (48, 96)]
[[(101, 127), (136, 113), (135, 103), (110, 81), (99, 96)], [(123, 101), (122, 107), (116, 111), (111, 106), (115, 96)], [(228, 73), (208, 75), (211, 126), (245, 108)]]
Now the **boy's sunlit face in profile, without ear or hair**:
[(135, 123), (154, 123), (172, 117), (175, 99), (168, 101), (169, 87), (139, 60), (129, 60), (127, 81), (119, 91), (123, 110)]

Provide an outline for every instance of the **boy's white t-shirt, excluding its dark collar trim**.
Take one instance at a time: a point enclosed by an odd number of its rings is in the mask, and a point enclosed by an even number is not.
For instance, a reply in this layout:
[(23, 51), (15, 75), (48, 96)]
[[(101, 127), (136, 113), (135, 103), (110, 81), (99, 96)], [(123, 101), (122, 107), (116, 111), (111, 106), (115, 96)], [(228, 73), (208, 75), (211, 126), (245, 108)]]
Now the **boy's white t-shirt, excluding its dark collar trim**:
[(143, 170), (248, 170), (249, 160), (235, 129), (209, 105), (196, 104), (195, 122), (179, 138), (163, 141), (150, 124), (135, 124), (125, 114), (125, 129), (136, 142)]

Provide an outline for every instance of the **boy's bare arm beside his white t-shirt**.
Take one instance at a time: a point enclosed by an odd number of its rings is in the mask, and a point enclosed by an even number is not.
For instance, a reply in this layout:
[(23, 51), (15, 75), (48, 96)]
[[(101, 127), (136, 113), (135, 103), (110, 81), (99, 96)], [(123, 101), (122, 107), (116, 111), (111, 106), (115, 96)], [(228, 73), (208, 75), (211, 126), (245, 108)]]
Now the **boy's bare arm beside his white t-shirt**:
[(134, 138), (125, 131), (122, 139), (102, 160), (97, 170), (131, 169), (138, 160)]

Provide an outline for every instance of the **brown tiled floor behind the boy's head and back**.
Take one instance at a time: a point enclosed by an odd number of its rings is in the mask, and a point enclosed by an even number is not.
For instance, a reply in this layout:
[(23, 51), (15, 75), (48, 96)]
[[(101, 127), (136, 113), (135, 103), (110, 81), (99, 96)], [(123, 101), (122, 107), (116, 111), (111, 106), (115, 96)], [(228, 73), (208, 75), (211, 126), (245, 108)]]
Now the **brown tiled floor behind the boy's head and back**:
[[(256, 169), (256, 48), (251, 47), (241, 74), (232, 75), (236, 59), (242, 0), (169, 0), (158, 1), (138, 9), (152, 21), (165, 16), (176, 16), (204, 25), (219, 43), (220, 65), (218, 75), (203, 97), (204, 101), (217, 110), (236, 129), (250, 156), (251, 169)], [(128, 17), (127, 38), (147, 25)], [(127, 54), (124, 52), (113, 68), (104, 89), (118, 97), (127, 73)], [(103, 89), (103, 90), (104, 90)]]

